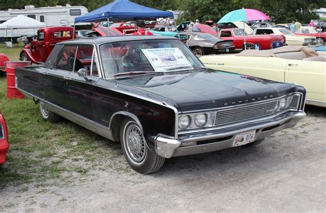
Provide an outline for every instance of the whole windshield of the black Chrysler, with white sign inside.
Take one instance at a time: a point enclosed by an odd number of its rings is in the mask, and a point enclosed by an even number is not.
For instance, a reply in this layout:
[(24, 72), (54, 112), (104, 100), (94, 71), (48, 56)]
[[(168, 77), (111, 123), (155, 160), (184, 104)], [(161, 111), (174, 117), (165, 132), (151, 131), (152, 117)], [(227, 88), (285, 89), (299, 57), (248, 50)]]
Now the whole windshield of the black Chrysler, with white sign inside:
[(204, 68), (182, 41), (174, 39), (104, 43), (100, 57), (105, 78)]

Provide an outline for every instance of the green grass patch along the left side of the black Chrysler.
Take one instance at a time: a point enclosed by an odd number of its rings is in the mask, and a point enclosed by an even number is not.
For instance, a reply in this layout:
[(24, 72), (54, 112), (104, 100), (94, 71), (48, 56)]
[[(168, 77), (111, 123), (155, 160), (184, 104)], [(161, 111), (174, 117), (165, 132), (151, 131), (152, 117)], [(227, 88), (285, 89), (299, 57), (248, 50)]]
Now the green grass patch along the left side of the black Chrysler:
[[(8, 100), (6, 77), (0, 77), (0, 110), (10, 143), (7, 162), (0, 167), (0, 190), (26, 183), (32, 187), (67, 185), (87, 178), (94, 170), (130, 171), (127, 163), (116, 161), (122, 158), (120, 143), (69, 121), (43, 121), (39, 105), (31, 99)], [(30, 185), (22, 187), (28, 190)]]

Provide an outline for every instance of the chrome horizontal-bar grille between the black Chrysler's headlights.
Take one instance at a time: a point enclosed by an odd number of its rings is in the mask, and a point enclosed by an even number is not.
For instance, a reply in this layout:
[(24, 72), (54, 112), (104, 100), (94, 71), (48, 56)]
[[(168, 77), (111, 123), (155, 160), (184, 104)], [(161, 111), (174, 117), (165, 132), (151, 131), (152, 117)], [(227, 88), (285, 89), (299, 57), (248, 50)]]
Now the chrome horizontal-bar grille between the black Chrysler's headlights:
[(239, 108), (229, 108), (217, 111), (215, 125), (226, 125), (235, 122), (257, 119), (262, 116), (269, 116), (278, 107), (278, 101), (250, 104)]

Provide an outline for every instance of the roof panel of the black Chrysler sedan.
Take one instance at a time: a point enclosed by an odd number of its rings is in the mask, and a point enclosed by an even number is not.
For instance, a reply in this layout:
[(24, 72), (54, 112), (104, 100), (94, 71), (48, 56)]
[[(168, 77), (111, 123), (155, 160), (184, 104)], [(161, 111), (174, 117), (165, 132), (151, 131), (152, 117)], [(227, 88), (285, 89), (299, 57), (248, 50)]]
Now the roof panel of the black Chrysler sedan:
[(146, 40), (156, 40), (156, 39), (175, 39), (174, 37), (164, 37), (164, 36), (113, 36), (113, 37), (89, 37), (89, 38), (80, 38), (72, 39), (67, 41), (62, 41), (58, 44), (69, 44), (69, 43), (91, 43), (91, 44), (101, 44), (101, 43), (110, 43), (118, 41), (146, 41)]

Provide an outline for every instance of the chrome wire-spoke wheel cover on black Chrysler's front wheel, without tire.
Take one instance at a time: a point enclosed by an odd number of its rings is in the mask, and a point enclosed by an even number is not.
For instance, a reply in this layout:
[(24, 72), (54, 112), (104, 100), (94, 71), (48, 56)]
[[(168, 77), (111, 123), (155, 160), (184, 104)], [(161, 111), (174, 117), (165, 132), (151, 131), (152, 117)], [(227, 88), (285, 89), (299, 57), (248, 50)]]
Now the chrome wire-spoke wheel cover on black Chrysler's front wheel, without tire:
[(129, 159), (135, 165), (142, 164), (146, 156), (146, 144), (142, 130), (140, 130), (135, 121), (129, 121), (124, 126), (123, 136), (124, 147), (126, 148), (125, 150)]

